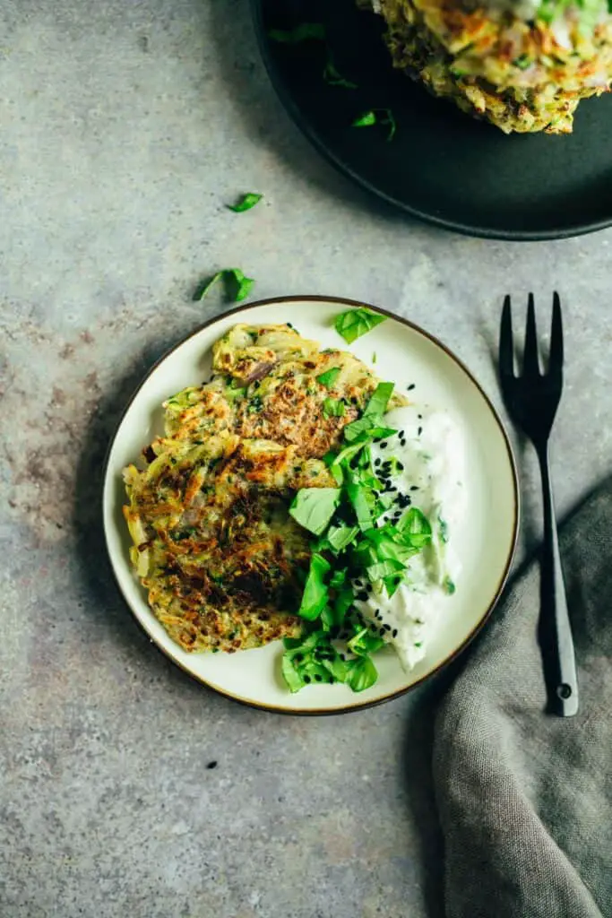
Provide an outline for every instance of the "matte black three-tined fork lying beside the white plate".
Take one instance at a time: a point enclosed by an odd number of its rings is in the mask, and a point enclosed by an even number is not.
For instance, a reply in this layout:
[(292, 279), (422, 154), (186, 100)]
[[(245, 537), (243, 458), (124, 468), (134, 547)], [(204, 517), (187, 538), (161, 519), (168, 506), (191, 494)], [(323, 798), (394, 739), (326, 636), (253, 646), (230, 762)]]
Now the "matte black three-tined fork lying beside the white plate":
[(562, 717), (578, 711), (578, 683), (573, 652), (572, 629), (567, 610), (565, 586), (554, 501), (552, 499), (549, 442), (552, 423), (563, 388), (563, 330), (559, 295), (552, 298), (551, 349), (549, 368), (540, 370), (536, 312), (529, 294), (523, 373), (514, 370), (514, 341), (510, 297), (504, 301), (499, 337), (499, 375), (502, 394), (511, 418), (533, 443), (542, 476), (544, 505), (544, 543), (540, 579), (540, 646), (544, 663), (549, 709)]

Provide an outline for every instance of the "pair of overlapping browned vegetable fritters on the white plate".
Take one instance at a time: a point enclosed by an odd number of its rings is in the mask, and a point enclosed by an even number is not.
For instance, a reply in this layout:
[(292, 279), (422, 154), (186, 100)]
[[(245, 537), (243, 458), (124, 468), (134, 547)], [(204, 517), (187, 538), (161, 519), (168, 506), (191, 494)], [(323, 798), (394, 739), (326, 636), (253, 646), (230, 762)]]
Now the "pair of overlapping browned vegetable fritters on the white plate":
[[(328, 388), (317, 376), (332, 367)], [(335, 486), (322, 456), (377, 383), (350, 353), (321, 352), (288, 326), (236, 325), (213, 348), (210, 381), (164, 403), (165, 435), (124, 471), (124, 513), (150, 608), (185, 650), (300, 633), (310, 549), (289, 506), (301, 487)], [(328, 397), (343, 400), (342, 417), (326, 416)]]

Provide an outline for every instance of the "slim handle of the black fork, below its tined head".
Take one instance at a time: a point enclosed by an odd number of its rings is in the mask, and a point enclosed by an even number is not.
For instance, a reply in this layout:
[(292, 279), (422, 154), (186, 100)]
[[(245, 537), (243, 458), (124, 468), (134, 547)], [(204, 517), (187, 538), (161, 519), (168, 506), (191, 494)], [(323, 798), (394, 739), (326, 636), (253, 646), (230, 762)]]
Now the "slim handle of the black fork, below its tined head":
[(544, 508), (544, 543), (540, 578), (540, 646), (549, 695), (549, 710), (560, 717), (573, 717), (578, 712), (578, 679), (552, 498), (548, 443), (538, 449), (538, 458), (542, 476)]

